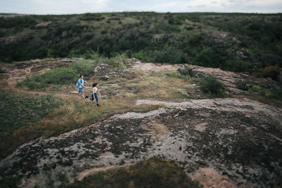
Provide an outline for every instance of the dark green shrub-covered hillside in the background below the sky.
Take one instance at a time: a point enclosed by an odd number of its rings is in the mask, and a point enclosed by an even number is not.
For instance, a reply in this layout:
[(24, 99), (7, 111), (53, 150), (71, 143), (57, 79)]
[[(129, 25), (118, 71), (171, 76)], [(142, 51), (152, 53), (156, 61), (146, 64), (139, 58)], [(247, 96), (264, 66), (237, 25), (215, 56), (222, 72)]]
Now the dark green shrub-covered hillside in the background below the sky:
[[(125, 53), (162, 63), (192, 63), (236, 72), (282, 57), (282, 14), (86, 13), (0, 17), (0, 61), (91, 58)], [(279, 59), (280, 58), (280, 59)], [(252, 69), (253, 68), (253, 69)]]

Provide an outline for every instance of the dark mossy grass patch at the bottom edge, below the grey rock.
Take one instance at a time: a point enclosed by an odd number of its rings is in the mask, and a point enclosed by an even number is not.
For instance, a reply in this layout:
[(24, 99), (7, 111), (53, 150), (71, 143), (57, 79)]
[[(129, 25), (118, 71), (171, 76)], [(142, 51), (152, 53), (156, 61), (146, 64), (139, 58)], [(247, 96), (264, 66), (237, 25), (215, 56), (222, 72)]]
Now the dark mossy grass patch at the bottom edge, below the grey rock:
[(67, 187), (200, 187), (174, 162), (151, 158), (128, 167), (99, 172)]

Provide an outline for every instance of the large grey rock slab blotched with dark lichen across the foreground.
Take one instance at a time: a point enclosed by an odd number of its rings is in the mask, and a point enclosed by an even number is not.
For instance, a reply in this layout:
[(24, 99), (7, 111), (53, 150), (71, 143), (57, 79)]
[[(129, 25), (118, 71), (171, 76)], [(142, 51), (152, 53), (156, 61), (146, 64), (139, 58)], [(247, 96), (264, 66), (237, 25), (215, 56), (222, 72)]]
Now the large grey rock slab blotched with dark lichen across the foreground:
[[(60, 172), (74, 180), (87, 170), (159, 156), (176, 161), (206, 186), (272, 187), (282, 176), (282, 112), (275, 107), (232, 98), (138, 100), (136, 105), (165, 108), (115, 115), (58, 137), (33, 140), (4, 159), (0, 171), (26, 176), (24, 186), (35, 181), (45, 187), (47, 178)], [(44, 175), (46, 169), (52, 176)], [(215, 175), (203, 178), (201, 169)], [(228, 180), (225, 184), (221, 176)]]

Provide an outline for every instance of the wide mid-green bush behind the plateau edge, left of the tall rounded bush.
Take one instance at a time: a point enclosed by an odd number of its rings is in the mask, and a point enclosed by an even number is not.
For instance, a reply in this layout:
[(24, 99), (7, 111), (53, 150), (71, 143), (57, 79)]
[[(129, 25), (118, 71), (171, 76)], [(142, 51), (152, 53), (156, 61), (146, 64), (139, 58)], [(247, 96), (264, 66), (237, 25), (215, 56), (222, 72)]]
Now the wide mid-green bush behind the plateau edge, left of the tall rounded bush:
[(186, 63), (187, 58), (183, 52), (178, 52), (175, 47), (165, 45), (163, 50), (155, 50), (150, 58), (159, 63)]

